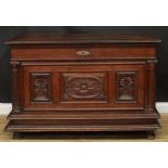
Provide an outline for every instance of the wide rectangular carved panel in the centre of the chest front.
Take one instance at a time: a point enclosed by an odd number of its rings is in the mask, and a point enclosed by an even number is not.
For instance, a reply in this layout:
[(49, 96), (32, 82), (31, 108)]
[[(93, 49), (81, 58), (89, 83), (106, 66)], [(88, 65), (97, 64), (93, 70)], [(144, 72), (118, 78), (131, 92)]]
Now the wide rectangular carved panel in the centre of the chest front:
[(104, 73), (65, 73), (62, 101), (105, 100)]

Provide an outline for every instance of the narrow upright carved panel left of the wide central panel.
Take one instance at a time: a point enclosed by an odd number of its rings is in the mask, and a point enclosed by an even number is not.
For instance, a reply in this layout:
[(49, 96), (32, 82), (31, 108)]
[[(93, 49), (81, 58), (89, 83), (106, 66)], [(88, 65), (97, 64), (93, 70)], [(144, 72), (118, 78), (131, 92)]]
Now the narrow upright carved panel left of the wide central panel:
[(51, 74), (30, 74), (30, 98), (34, 102), (51, 102)]

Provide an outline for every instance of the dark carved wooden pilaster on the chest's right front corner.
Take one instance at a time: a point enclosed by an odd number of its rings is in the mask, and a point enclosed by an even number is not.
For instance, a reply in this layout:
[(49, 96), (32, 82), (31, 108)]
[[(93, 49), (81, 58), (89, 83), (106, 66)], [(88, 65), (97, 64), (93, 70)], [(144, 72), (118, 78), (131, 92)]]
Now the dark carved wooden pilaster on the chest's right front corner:
[(146, 111), (154, 112), (155, 111), (155, 90), (156, 90), (156, 63), (157, 61), (147, 61), (146, 69), (147, 69), (147, 96), (146, 96)]

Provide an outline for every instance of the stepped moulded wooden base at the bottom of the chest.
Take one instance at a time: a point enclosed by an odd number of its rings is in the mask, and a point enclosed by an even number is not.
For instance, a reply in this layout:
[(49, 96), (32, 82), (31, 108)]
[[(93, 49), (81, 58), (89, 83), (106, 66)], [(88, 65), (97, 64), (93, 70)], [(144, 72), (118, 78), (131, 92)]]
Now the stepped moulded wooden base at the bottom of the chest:
[[(66, 137), (66, 134), (69, 137), (76, 132), (76, 138), (79, 134), (80, 137), (86, 137), (85, 134), (87, 132), (92, 132), (93, 134), (95, 132), (98, 134), (106, 132), (108, 135), (111, 134), (112, 138), (118, 134), (120, 138), (133, 135), (135, 138), (154, 139), (155, 131), (160, 128), (157, 112), (138, 112), (134, 114), (130, 112), (130, 114), (121, 115), (118, 113), (114, 114), (114, 112), (99, 112), (95, 114), (96, 112), (88, 115), (65, 115), (62, 112), (57, 112), (56, 115), (43, 115), (39, 117), (39, 115), (17, 115), (11, 113), (8, 117), (10, 121), (5, 130), (13, 131), (15, 139), (23, 138), (23, 134), (26, 132), (28, 137), (31, 137), (35, 132), (37, 132), (37, 134), (34, 135), (40, 137), (41, 132), (46, 132), (48, 138), (50, 138), (51, 134), (56, 138), (57, 133), (63, 132), (65, 132), (65, 134), (62, 134), (63, 137)], [(141, 137), (141, 134), (143, 135)]]

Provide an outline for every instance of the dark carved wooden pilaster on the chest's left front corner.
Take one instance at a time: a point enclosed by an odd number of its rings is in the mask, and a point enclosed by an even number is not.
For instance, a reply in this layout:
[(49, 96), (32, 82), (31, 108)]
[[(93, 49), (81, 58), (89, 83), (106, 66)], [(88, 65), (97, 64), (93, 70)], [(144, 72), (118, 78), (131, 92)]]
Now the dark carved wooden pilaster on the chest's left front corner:
[(11, 63), (11, 77), (12, 77), (12, 104), (13, 112), (20, 113), (21, 107), (21, 65), (20, 62)]

